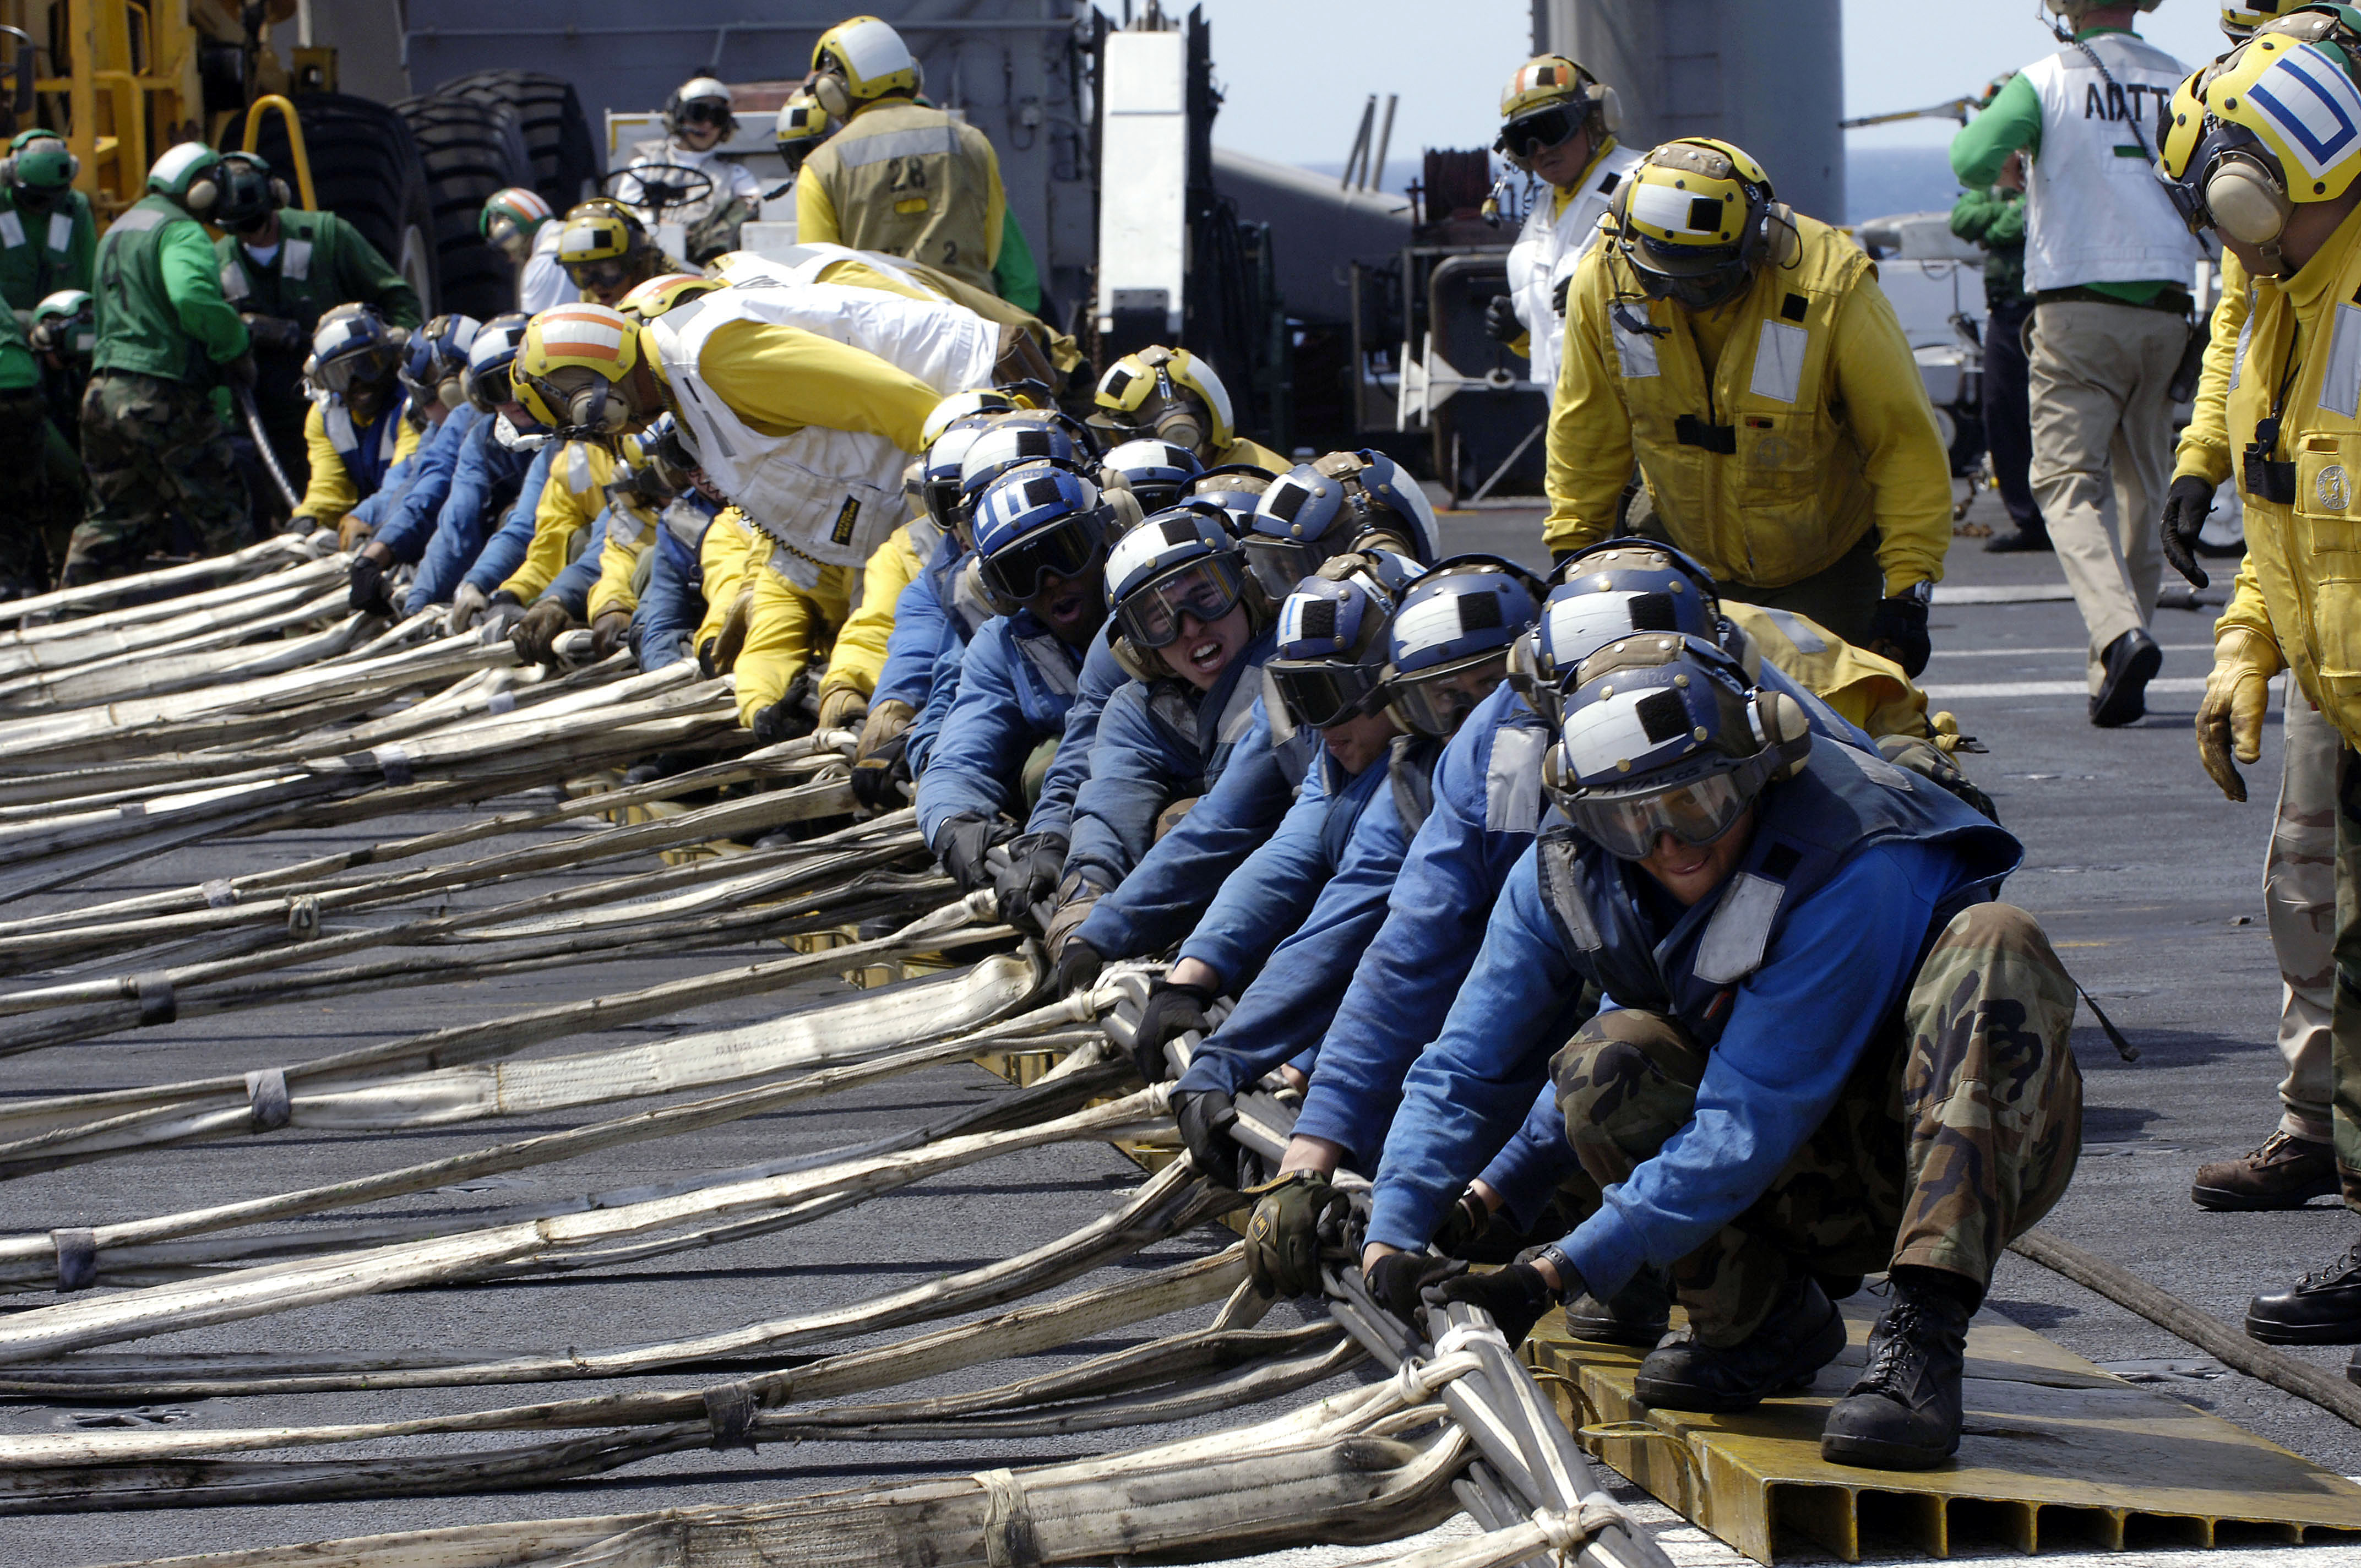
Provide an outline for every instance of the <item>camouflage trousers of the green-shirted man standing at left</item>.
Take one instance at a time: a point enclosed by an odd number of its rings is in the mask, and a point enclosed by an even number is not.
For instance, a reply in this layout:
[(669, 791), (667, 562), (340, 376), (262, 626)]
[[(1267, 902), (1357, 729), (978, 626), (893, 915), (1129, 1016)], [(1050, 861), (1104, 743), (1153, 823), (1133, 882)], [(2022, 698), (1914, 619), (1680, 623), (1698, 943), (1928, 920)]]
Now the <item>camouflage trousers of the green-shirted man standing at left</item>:
[[(90, 515), (66, 550), (73, 581), (137, 571), (151, 550), (224, 555), (255, 538), (229, 432), (196, 387), (99, 371), (83, 394), (83, 463)], [(175, 541), (172, 512), (194, 538)]]

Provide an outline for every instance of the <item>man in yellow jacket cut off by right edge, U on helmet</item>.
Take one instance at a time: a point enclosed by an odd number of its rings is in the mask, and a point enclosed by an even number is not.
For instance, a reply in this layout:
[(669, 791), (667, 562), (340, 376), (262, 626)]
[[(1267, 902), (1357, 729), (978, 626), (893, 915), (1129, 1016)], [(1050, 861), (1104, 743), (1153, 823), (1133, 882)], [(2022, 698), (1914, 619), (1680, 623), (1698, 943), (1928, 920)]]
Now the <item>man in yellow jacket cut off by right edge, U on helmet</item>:
[[(2290, 31), (2278, 31), (2281, 26)], [(2295, 28), (2304, 28), (2297, 33)], [(2328, 33), (2316, 47), (2311, 38)], [(2165, 113), (2158, 170), (2193, 229), (2215, 229), (2252, 276), (2245, 349), (2224, 401), (2224, 446), (2245, 501), (2245, 562), (2215, 623), (2198, 701), (2198, 756), (2231, 801), (2255, 763), (2271, 675), (2288, 668), (2335, 730), (2337, 777), (2361, 753), (2361, 137), (2321, 139), (2285, 106), (2361, 125), (2361, 35), (2333, 12), (2297, 12), (2198, 71)], [(2283, 97), (2285, 94), (2285, 97)], [(2290, 692), (2288, 708), (2297, 706)], [(2333, 791), (2337, 933), (2330, 999), (2330, 1190), (2361, 1209), (2361, 812)], [(2335, 1181), (2342, 1176), (2342, 1181)], [(2361, 1341), (2354, 1259), (2248, 1306), (2271, 1344)]]

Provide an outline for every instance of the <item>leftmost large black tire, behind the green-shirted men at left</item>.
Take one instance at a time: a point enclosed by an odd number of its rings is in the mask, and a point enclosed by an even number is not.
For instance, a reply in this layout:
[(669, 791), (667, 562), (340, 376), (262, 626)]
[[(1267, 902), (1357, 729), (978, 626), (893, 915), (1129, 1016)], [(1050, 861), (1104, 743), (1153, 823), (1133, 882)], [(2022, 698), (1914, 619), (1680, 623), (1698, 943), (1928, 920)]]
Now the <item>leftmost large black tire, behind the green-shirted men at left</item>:
[[(385, 104), (345, 92), (305, 92), (295, 99), (312, 189), (323, 213), (335, 213), (361, 231), (378, 255), (418, 290), (418, 307), (432, 316), (439, 298), (434, 210), (427, 175), (408, 123)], [(279, 116), (262, 120), (255, 146), (272, 172), (288, 182), (295, 201), (295, 158)]]

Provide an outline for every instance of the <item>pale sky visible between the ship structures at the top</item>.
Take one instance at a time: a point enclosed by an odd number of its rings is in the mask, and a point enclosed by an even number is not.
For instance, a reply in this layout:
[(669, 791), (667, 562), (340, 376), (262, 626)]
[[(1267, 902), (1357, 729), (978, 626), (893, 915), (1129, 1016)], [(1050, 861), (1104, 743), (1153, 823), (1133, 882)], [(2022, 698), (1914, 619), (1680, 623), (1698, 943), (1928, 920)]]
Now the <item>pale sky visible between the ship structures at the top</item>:
[[(1199, 0), (1228, 102), (1214, 139), (1280, 163), (1341, 165), (1369, 94), (1400, 94), (1388, 165), (1485, 146), (1499, 87), (1532, 43), (1528, 0)], [(1627, 0), (1653, 5), (1655, 0)], [(1780, 5), (1783, 0), (1757, 0)], [(1119, 12), (1119, 0), (1100, 0)], [(1846, 116), (1969, 97), (2054, 50), (2040, 0), (1844, 0)], [(1447, 26), (1435, 17), (1447, 14)], [(2141, 35), (2196, 66), (2222, 50), (2215, 0), (2163, 0)], [(1903, 33), (1905, 38), (1898, 38)], [(1950, 120), (1846, 132), (1849, 149), (1943, 146)]]

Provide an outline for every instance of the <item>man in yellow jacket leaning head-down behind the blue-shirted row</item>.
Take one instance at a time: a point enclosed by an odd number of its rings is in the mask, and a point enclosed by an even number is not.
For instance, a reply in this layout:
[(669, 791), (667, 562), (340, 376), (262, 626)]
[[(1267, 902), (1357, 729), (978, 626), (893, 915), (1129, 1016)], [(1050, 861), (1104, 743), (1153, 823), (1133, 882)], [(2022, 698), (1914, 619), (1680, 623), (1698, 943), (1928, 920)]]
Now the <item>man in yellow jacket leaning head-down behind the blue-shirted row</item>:
[(1950, 458), (1877, 267), (1728, 142), (1650, 151), (1575, 267), (1549, 416), (1556, 560), (1653, 531), (1728, 590), (1917, 675), (1950, 548)]

